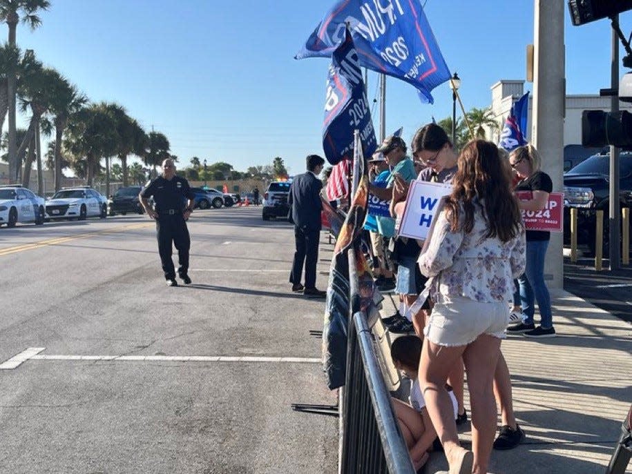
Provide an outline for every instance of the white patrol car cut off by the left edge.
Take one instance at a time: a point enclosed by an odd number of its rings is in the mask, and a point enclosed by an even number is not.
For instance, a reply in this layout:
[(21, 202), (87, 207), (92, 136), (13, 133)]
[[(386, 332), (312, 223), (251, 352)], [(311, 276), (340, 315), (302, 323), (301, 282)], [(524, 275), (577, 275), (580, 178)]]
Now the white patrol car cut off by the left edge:
[(0, 186), (0, 224), (14, 227), (17, 222), (44, 224), (43, 197), (19, 185)]

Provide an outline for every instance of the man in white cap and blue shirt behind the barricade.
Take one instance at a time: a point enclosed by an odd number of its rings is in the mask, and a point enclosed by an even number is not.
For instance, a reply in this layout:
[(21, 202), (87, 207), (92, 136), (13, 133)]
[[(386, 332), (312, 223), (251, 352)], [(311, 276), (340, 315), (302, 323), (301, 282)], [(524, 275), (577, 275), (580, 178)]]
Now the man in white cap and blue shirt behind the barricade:
[[(386, 158), (383, 153), (374, 153), (372, 158), (368, 161), (369, 164), (369, 176), (374, 177), (371, 182), (379, 188), (385, 188), (388, 177), (390, 176), (390, 170), (386, 164)], [(379, 290), (392, 290), (395, 286), (395, 279), (393, 277), (394, 265), (390, 259), (387, 259), (385, 248), (385, 237), (383, 237), (377, 228), (376, 216), (369, 214), (365, 221), (364, 228), (369, 231), (371, 237), (371, 246), (373, 248), (373, 255), (376, 259), (375, 273), (378, 277), (375, 280), (375, 284)]]

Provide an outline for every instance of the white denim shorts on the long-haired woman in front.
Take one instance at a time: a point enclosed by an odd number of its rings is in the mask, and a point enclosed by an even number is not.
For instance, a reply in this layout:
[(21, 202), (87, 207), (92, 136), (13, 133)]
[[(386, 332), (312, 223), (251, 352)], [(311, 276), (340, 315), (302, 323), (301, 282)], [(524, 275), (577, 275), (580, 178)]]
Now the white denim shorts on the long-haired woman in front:
[(480, 303), (462, 296), (446, 297), (432, 308), (423, 335), (439, 346), (466, 346), (481, 334), (506, 337), (510, 307), (506, 302)]

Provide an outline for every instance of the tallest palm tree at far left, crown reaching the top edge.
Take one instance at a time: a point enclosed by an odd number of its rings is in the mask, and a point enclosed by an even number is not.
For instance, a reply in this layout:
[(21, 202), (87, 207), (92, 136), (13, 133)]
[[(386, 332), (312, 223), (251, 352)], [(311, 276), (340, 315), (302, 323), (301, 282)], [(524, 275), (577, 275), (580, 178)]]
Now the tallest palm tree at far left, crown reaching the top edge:
[[(6, 22), (9, 27), (9, 46), (15, 48), (15, 36), (17, 23), (20, 14), (23, 15), (22, 22), (27, 23), (31, 30), (35, 30), (41, 25), (41, 20), (37, 16), (38, 10), (48, 10), (50, 2), (48, 0), (0, 0), (0, 21)], [(16, 77), (15, 71), (8, 70), (7, 75), (7, 96), (9, 111), (9, 175), (13, 177), (17, 170), (17, 141), (15, 136), (15, 93)], [(13, 168), (11, 166), (13, 164)], [(13, 174), (11, 173), (13, 170)]]

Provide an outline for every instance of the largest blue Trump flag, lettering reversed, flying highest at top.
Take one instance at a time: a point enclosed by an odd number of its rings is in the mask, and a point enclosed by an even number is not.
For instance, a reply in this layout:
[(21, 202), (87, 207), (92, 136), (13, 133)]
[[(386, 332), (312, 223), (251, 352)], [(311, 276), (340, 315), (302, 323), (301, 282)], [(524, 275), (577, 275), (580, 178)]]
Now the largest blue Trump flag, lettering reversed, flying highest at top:
[(296, 59), (329, 57), (345, 39), (346, 25), (360, 65), (406, 81), (424, 102), (450, 79), (450, 71), (419, 0), (339, 0), (310, 35)]

